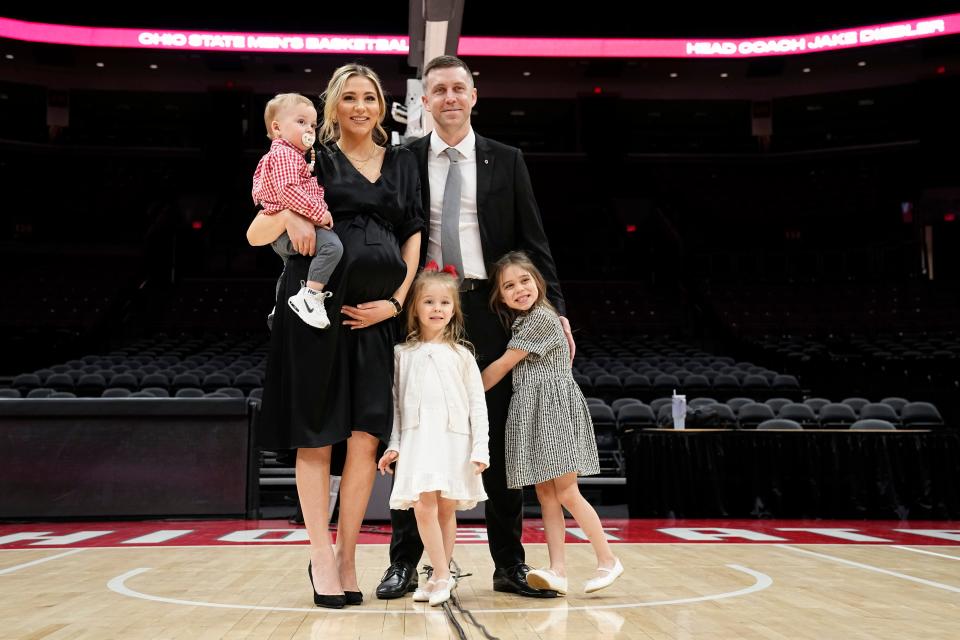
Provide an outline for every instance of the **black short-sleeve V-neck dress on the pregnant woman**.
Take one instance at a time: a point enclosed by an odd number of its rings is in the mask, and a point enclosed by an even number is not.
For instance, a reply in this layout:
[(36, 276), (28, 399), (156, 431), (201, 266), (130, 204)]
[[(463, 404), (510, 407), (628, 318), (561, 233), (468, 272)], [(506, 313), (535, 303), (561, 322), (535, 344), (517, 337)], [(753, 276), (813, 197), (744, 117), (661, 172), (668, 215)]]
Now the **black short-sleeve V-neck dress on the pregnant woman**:
[(387, 442), (393, 424), (393, 345), (400, 327), (388, 320), (350, 330), (341, 324), (346, 316), (340, 307), (385, 300), (403, 282), (400, 247), (423, 230), (417, 163), (407, 149), (387, 147), (381, 175), (370, 182), (330, 144), (318, 149), (317, 179), (344, 249), (326, 287), (333, 294), (326, 301), (330, 327), (310, 327), (287, 306), (310, 264), (309, 257), (290, 258), (277, 296), (257, 427), (265, 449), (334, 445), (355, 430)]

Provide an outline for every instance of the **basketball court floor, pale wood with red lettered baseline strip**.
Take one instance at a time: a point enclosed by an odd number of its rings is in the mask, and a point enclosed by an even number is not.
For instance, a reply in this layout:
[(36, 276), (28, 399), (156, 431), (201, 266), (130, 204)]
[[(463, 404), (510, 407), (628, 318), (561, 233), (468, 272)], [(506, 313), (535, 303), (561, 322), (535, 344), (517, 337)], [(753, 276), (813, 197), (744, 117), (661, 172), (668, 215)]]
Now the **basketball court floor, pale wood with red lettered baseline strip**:
[[(286, 521), (0, 524), (0, 638), (960, 638), (960, 523), (604, 524), (624, 576), (584, 594), (593, 554), (571, 527), (571, 591), (537, 600), (491, 589), (482, 523), (462, 523), (462, 636), (441, 607), (374, 596), (389, 525), (361, 536), (363, 605), (329, 610), (312, 603), (306, 532)], [(533, 566), (543, 541), (527, 520)]]

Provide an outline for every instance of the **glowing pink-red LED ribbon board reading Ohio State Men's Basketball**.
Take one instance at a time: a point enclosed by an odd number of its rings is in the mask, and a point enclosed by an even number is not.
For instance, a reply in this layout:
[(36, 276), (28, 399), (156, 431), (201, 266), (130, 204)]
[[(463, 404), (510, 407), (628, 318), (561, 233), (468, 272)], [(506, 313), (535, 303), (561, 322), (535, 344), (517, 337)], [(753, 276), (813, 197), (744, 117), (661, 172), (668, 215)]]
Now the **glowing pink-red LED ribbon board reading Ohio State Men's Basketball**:
[[(683, 24), (677, 24), (678, 29)], [(756, 58), (853, 49), (960, 33), (960, 13), (834, 31), (747, 39), (502, 38), (461, 36), (461, 56), (546, 58)], [(114, 29), (0, 18), (0, 38), (86, 47), (258, 53), (408, 55), (406, 35)]]

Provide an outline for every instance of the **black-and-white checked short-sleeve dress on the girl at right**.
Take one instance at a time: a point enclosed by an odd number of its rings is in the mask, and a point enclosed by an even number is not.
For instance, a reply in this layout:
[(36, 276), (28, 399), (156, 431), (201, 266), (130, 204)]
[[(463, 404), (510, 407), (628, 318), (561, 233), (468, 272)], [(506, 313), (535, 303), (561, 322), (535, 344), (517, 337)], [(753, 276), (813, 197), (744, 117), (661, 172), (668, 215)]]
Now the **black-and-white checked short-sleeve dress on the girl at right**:
[(513, 370), (506, 428), (507, 486), (546, 482), (575, 471), (600, 473), (587, 401), (570, 370), (560, 319), (537, 305), (513, 323), (507, 345), (528, 353)]

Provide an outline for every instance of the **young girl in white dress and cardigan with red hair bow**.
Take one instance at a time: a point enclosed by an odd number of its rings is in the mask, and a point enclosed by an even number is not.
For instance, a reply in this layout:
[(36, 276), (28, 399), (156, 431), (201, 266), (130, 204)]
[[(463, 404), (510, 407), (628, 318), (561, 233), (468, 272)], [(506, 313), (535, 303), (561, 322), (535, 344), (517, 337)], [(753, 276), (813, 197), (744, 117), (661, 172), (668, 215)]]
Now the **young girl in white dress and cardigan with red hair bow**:
[(431, 261), (413, 283), (407, 340), (394, 348), (393, 433), (377, 463), (396, 478), (391, 509), (413, 510), (433, 575), (413, 594), (436, 606), (450, 598), (457, 510), (487, 499), (487, 404), (480, 369), (463, 338), (457, 278)]

